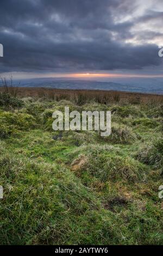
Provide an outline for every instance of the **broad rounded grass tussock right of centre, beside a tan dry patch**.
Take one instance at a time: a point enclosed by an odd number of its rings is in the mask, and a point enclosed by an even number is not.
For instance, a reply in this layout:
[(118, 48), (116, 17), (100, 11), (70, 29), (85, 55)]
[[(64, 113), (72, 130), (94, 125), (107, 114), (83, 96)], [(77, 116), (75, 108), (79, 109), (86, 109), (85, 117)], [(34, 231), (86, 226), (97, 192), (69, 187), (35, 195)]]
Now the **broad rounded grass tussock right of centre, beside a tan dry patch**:
[(87, 156), (89, 161), (86, 161), (82, 166), (82, 170), (90, 173), (92, 176), (106, 180), (128, 180), (136, 182), (137, 180), (145, 180), (145, 167), (138, 161), (130, 157), (121, 157), (115, 155), (104, 155), (92, 153)]

